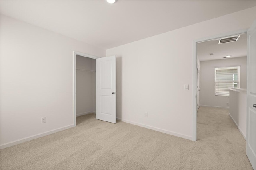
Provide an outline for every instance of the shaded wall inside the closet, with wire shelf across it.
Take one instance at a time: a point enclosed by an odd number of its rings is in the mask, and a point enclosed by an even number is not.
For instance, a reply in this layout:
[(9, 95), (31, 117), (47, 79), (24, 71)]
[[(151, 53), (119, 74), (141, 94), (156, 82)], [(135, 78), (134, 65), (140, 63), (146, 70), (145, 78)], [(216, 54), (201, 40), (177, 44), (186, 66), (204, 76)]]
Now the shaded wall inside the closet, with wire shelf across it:
[[(76, 55), (76, 68), (95, 71), (96, 60)], [(76, 115), (96, 112), (96, 74), (76, 71)]]

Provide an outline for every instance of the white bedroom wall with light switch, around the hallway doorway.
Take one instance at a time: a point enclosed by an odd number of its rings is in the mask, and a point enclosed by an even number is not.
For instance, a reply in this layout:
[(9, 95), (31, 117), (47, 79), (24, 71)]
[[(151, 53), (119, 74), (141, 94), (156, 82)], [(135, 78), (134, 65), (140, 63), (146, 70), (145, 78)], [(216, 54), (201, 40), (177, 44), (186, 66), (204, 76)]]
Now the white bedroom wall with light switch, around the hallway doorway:
[(254, 7), (106, 50), (117, 56), (117, 117), (192, 139), (193, 40), (246, 29), (255, 19)]

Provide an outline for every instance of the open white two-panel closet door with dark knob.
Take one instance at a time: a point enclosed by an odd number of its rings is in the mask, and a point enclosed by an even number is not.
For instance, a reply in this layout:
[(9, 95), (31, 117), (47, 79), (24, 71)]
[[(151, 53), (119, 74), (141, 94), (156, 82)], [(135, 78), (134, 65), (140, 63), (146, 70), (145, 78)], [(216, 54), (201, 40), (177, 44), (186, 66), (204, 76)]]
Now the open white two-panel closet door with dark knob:
[(96, 59), (96, 119), (116, 123), (116, 56)]

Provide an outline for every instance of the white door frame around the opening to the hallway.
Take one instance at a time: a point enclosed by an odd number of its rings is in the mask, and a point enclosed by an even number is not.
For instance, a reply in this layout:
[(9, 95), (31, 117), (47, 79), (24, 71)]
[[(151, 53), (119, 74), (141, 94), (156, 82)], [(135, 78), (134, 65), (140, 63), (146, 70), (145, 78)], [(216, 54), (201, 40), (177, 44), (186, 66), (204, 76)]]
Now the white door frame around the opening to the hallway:
[(193, 119), (192, 119), (192, 140), (196, 141), (196, 123), (197, 123), (197, 92), (196, 92), (196, 74), (197, 74), (197, 64), (196, 64), (196, 44), (197, 43), (202, 43), (204, 41), (209, 41), (209, 40), (214, 40), (214, 39), (220, 39), (223, 37), (229, 37), (229, 36), (234, 36), (238, 34), (243, 34), (247, 33), (248, 29), (241, 29), (241, 30), (236, 30), (236, 31), (231, 31), (231, 32), (226, 32), (226, 33), (221, 33), (218, 35), (212, 35), (210, 37), (204, 37), (200, 39), (195, 39), (193, 40), (193, 108), (192, 108), (192, 113), (193, 113)]

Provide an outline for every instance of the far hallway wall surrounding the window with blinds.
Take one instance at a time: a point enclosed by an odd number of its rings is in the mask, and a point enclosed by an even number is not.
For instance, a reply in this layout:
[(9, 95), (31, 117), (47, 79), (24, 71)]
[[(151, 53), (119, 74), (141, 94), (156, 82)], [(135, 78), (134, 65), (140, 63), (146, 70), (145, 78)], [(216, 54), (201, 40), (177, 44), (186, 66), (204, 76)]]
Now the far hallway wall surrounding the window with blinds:
[(229, 96), (215, 96), (214, 67), (240, 65), (240, 88), (246, 88), (246, 57), (201, 61), (201, 106), (215, 106), (229, 108)]

